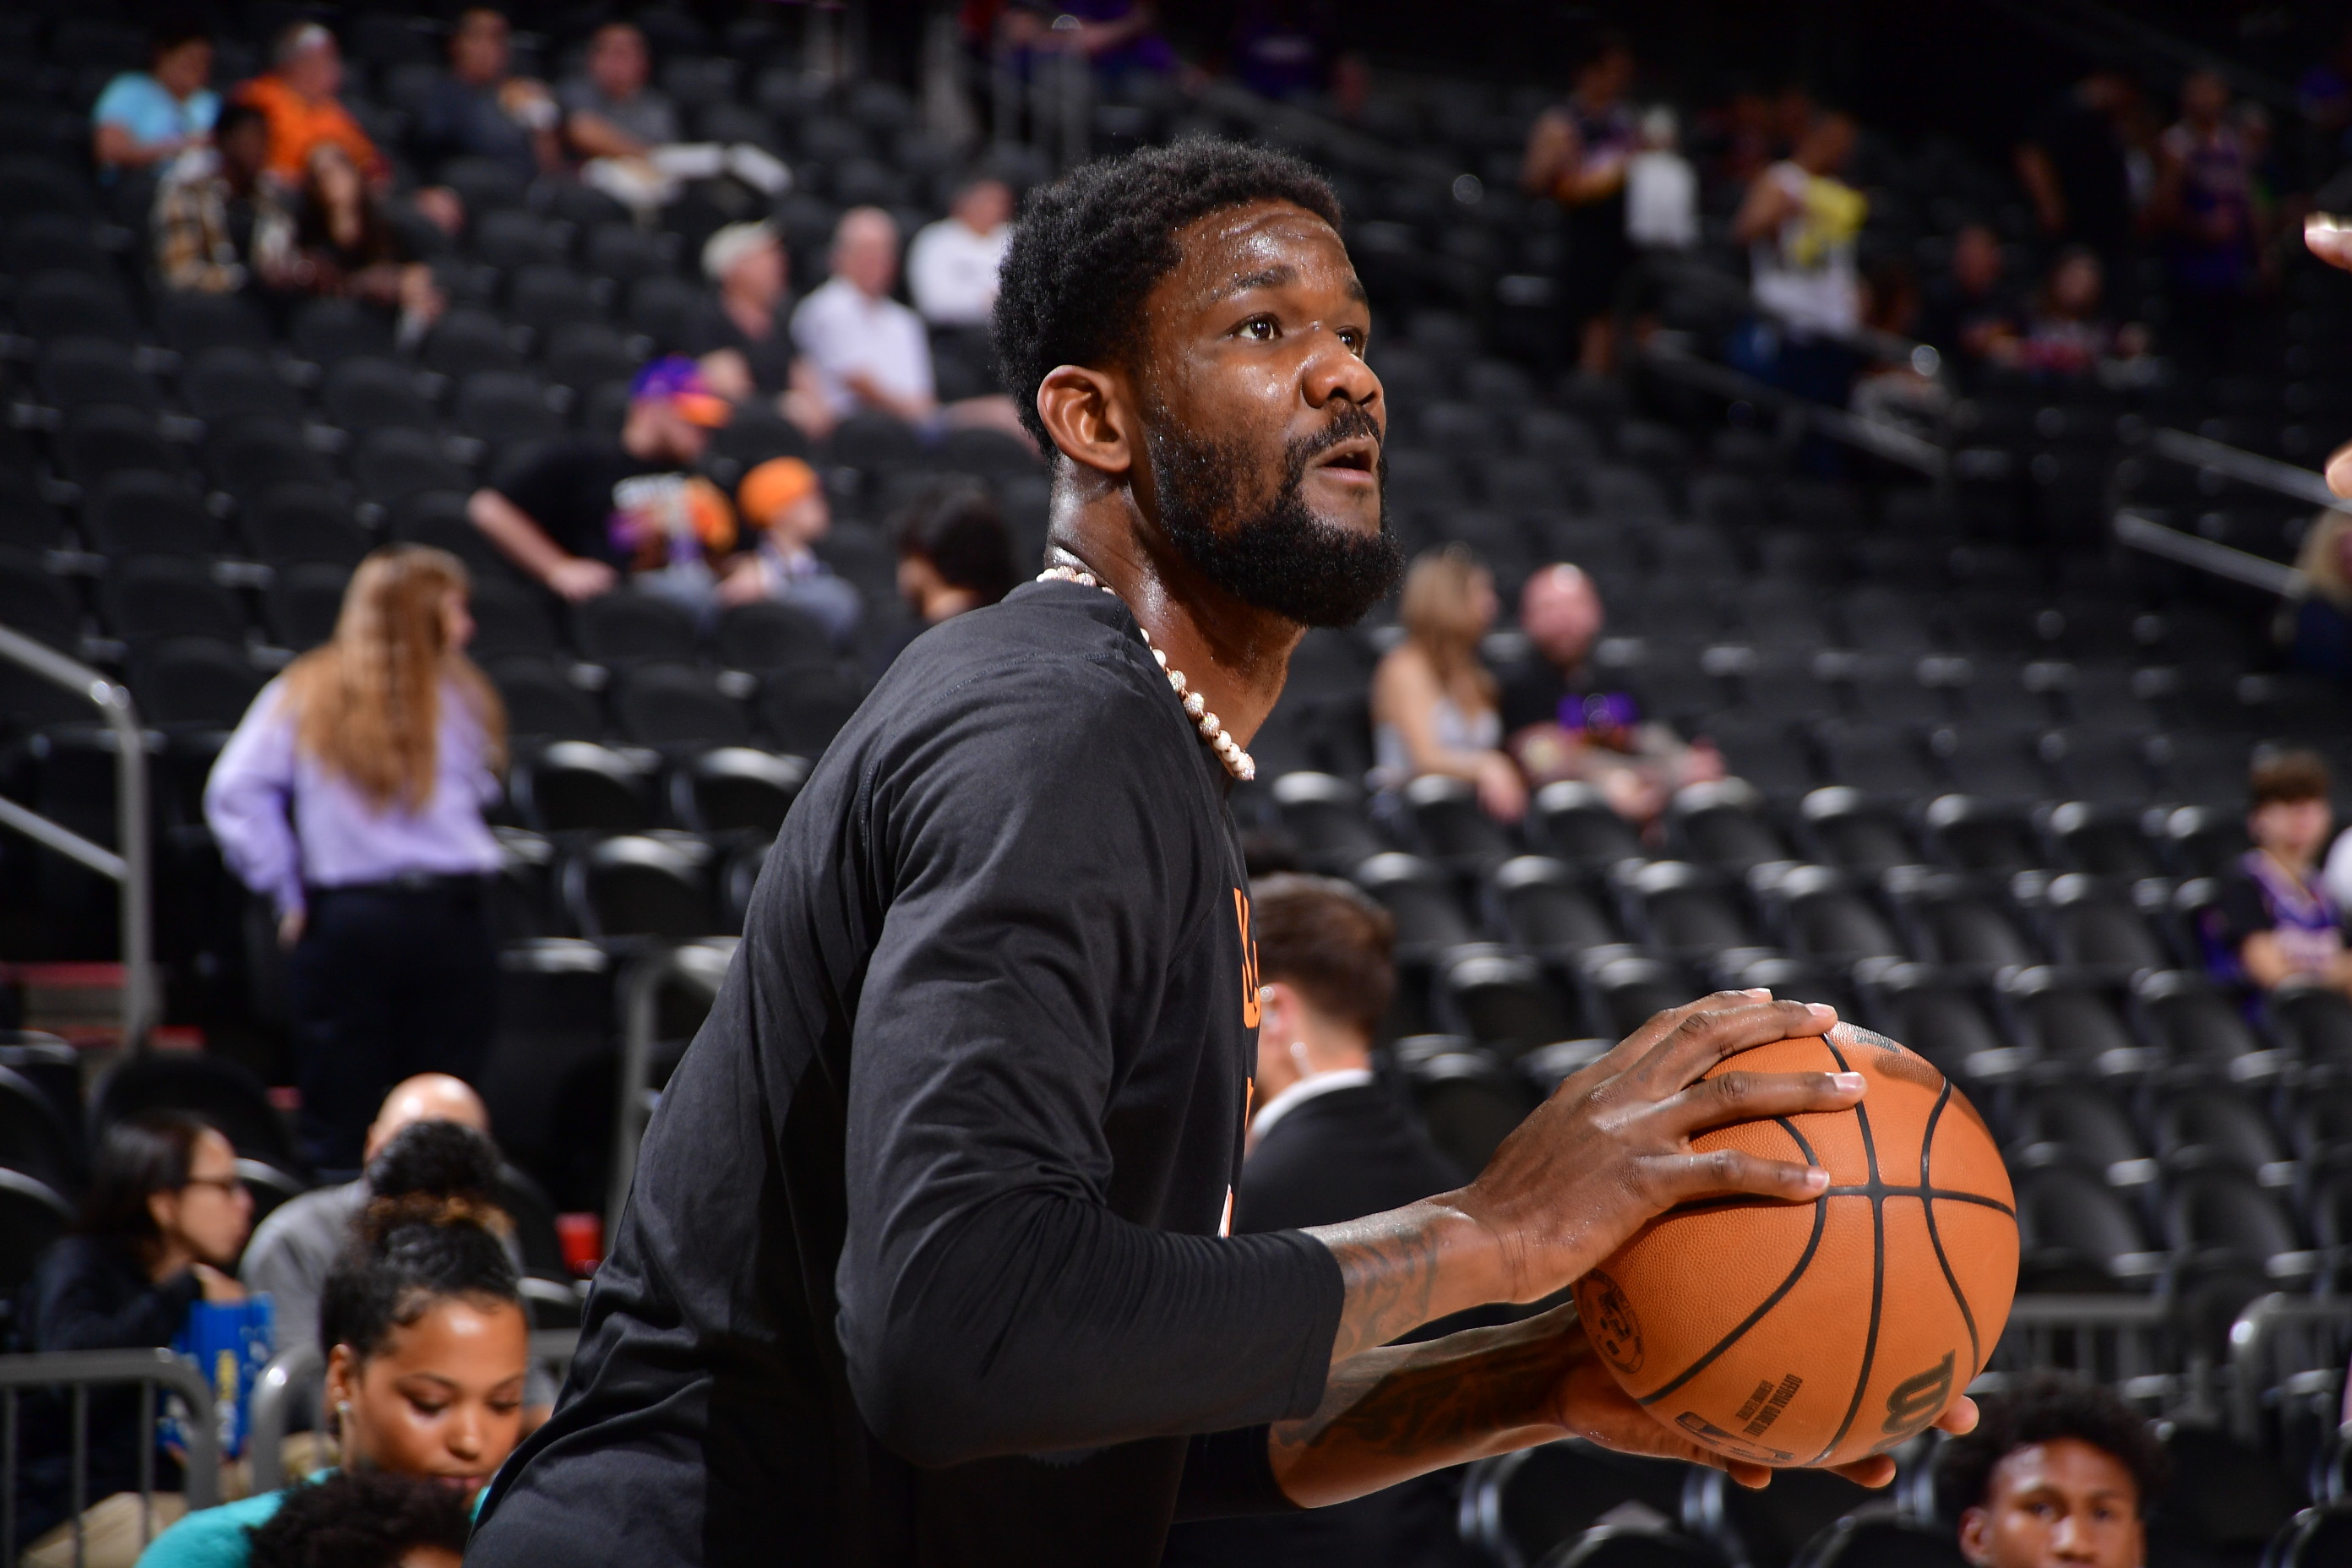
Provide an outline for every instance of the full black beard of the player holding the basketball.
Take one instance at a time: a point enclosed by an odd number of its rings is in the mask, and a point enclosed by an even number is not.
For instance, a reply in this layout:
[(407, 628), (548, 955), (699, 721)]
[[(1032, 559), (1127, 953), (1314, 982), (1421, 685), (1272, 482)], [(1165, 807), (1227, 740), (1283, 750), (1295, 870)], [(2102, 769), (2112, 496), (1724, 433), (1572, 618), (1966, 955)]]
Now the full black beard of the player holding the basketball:
[(1160, 496), (1160, 529), (1204, 578), (1298, 625), (1355, 625), (1404, 576), (1404, 550), (1388, 531), (1388, 451), (1378, 458), (1381, 531), (1359, 534), (1308, 510), (1308, 465), (1343, 440), (1381, 440), (1381, 423), (1345, 409), (1319, 435), (1289, 444), (1282, 482), (1249, 510), (1237, 480), (1254, 461), (1240, 444), (1185, 433), (1164, 409), (1145, 411), (1143, 449)]

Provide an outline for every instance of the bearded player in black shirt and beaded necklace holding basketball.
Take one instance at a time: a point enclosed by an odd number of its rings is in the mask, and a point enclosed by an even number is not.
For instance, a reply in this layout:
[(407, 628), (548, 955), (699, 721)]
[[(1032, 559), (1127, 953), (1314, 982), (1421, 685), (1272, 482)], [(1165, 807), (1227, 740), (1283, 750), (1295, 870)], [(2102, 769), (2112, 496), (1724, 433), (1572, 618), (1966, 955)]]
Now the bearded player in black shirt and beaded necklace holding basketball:
[(1571, 1432), (1719, 1462), (1566, 1312), (1383, 1347), (1684, 1199), (1820, 1192), (1689, 1138), (1851, 1105), (1693, 1086), (1828, 1009), (1661, 1013), (1470, 1187), (1228, 1234), (1258, 983), (1225, 795), (1303, 630), (1397, 581), (1338, 221), (1305, 165), (1211, 141), (1033, 195), (995, 336), (1051, 569), (920, 637), (811, 773), (470, 1561), (1148, 1568), (1178, 1514)]

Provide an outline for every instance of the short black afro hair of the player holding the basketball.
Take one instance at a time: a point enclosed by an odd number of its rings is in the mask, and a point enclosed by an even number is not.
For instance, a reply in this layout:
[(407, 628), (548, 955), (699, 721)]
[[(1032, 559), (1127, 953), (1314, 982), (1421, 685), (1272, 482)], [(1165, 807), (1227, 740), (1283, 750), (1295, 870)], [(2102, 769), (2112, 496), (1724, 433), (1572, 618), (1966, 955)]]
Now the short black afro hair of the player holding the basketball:
[(1289, 153), (1185, 136), (1098, 158), (1028, 197), (997, 275), (990, 324), (1021, 425), (1054, 454), (1037, 418), (1037, 383), (1056, 364), (1127, 364), (1143, 336), (1143, 301), (1176, 270), (1176, 230), (1249, 202), (1294, 202), (1341, 226), (1331, 186)]

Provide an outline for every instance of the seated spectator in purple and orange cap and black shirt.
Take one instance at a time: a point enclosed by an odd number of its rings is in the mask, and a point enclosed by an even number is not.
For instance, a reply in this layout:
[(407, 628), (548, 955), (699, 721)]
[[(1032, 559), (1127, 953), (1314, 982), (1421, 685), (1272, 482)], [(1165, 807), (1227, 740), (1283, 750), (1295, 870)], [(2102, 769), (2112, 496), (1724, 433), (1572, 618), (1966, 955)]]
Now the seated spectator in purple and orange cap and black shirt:
[(680, 597), (694, 597), (699, 576), (708, 599), (708, 559), (734, 548), (734, 508), (684, 470), (727, 418), (727, 400), (710, 393), (694, 360), (654, 360), (630, 383), (621, 440), (550, 442), (473, 491), (466, 510), (510, 562), (567, 599), (670, 567), (682, 569), (670, 578)]

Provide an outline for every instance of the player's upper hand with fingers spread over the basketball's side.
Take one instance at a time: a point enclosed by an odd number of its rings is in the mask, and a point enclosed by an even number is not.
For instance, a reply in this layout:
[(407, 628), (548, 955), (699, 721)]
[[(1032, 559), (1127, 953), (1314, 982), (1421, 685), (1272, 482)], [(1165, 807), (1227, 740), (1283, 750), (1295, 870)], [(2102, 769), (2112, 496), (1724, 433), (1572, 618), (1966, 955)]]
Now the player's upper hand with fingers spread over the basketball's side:
[(1658, 1013), (1609, 1056), (1571, 1074), (1503, 1140), (1458, 1194), (1503, 1260), (1501, 1300), (1559, 1291), (1653, 1215), (1703, 1197), (1806, 1201), (1828, 1173), (1738, 1150), (1693, 1152), (1691, 1138), (1729, 1121), (1844, 1110), (1863, 1098), (1853, 1072), (1700, 1074), (1773, 1039), (1820, 1034), (1837, 1013), (1717, 992)]

